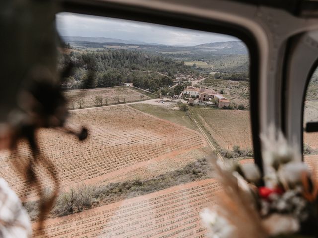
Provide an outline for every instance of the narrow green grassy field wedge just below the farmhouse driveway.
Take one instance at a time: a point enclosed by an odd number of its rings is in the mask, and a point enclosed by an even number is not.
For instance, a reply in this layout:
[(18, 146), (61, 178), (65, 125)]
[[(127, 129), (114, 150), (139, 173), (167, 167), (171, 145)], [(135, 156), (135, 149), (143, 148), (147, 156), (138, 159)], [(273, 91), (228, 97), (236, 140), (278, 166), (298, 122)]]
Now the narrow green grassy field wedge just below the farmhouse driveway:
[(196, 125), (189, 118), (188, 112), (151, 104), (131, 104), (129, 106), (144, 113), (185, 126), (189, 129), (198, 130)]

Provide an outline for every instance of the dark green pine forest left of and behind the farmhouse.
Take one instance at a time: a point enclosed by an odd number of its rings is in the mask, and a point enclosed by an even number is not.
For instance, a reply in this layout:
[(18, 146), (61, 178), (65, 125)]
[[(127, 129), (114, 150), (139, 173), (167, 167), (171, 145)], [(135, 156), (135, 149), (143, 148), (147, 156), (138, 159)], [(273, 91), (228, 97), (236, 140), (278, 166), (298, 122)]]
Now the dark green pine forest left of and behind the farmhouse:
[(184, 62), (150, 53), (131, 50), (107, 50), (104, 52), (75, 52), (62, 54), (61, 69), (72, 65), (72, 71), (63, 81), (66, 88), (113, 87), (120, 83), (151, 92), (173, 85), (178, 73), (194, 73)]

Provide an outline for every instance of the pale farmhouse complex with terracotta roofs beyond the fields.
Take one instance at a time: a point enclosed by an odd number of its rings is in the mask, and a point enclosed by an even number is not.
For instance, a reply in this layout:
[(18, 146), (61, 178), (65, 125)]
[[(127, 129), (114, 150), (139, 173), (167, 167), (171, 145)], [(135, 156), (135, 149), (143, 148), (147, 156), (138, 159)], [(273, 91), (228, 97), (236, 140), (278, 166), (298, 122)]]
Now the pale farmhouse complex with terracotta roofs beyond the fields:
[(217, 93), (213, 89), (205, 87), (195, 88), (192, 86), (187, 86), (183, 89), (183, 94), (187, 94), (192, 98), (197, 98), (200, 101), (209, 102), (210, 100), (215, 99), (219, 108), (223, 108), (224, 106), (228, 107), (230, 105), (230, 101), (223, 97), (222, 94)]

